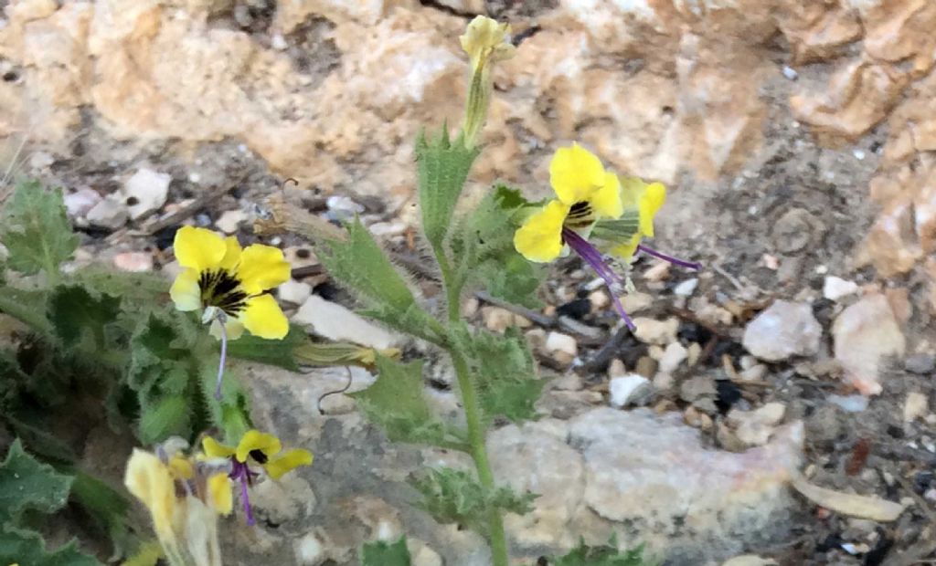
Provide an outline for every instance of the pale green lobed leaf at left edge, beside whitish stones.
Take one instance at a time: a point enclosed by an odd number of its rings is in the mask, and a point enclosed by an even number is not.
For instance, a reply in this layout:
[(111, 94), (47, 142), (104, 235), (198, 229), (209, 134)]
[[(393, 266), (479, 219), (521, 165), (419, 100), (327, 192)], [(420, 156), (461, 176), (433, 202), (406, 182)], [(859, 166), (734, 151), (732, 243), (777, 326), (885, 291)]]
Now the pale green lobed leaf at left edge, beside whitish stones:
[(47, 191), (38, 181), (16, 185), (0, 215), (0, 242), (7, 246), (7, 267), (24, 275), (46, 271), (56, 279), (59, 265), (78, 248), (66, 217), (62, 191)]

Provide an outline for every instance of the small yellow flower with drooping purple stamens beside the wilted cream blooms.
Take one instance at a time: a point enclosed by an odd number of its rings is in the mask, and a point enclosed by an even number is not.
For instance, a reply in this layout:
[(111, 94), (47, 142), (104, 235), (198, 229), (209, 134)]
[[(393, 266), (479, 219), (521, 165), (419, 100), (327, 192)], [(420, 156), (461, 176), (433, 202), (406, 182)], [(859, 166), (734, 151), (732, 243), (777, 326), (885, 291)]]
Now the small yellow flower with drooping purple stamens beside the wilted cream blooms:
[(237, 446), (227, 446), (212, 437), (205, 437), (201, 446), (208, 457), (230, 460), (230, 472), (227, 477), (241, 484), (241, 501), (248, 525), (254, 525), (255, 520), (247, 488), (252, 486), (256, 477), (260, 475), (252, 466), (262, 467), (267, 475), (278, 480), (286, 472), (312, 464), (313, 459), (311, 452), (299, 448), (280, 454), (283, 450), (280, 439), (258, 430), (248, 430)]

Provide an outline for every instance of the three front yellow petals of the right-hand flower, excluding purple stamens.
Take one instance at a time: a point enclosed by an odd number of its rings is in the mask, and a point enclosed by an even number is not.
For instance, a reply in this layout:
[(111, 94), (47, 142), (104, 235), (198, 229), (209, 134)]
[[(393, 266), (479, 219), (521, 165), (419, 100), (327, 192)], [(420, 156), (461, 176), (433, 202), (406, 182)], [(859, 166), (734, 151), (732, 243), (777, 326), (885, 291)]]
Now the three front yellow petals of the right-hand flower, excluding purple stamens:
[(545, 263), (563, 252), (563, 230), (587, 230), (596, 220), (623, 212), (621, 182), (592, 152), (573, 144), (549, 163), (557, 198), (534, 212), (514, 234), (514, 247), (530, 261)]

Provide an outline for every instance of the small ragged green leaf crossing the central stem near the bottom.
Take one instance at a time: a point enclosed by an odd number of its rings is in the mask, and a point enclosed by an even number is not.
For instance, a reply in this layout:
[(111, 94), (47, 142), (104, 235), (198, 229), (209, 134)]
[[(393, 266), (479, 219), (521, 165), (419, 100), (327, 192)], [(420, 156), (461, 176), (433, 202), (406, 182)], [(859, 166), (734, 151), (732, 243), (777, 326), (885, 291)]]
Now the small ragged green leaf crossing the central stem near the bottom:
[(486, 492), (470, 472), (452, 468), (431, 469), (412, 484), (422, 494), (419, 506), (436, 521), (455, 523), (485, 536), (491, 509), (525, 515), (533, 510), (538, 497), (530, 492), (518, 495), (509, 487)]

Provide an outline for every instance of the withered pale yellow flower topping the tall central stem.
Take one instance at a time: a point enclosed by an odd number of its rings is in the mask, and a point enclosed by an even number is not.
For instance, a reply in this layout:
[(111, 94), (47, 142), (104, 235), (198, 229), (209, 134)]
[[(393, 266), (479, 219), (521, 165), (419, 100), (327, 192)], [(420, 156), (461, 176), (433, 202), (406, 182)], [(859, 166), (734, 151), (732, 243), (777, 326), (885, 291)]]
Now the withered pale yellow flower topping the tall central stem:
[(509, 41), (510, 25), (498, 23), (485, 16), (477, 16), (460, 36), (461, 49), (471, 59), (471, 79), (465, 100), (462, 133), (465, 146), (474, 147), (475, 139), (488, 116), (490, 92), (494, 88), (493, 63), (507, 59), (515, 48)]

